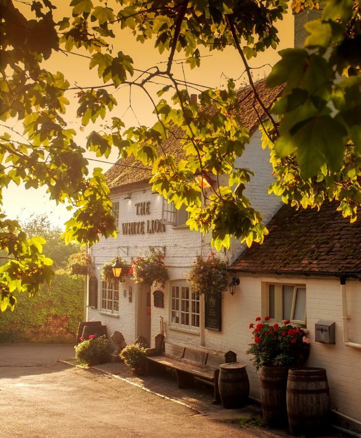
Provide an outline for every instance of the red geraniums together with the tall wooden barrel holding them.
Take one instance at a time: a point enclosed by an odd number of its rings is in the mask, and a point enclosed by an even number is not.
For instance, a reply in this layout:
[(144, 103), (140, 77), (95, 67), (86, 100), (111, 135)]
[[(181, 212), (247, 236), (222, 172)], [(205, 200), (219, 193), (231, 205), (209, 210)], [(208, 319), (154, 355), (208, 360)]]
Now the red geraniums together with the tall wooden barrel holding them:
[(253, 343), (247, 354), (253, 355), (253, 365), (261, 368), (260, 398), (263, 418), (273, 426), (287, 423), (286, 388), (290, 366), (299, 365), (307, 359), (309, 339), (300, 327), (294, 327), (289, 320), (283, 324), (270, 324), (266, 316), (261, 322), (258, 316), (250, 324)]

